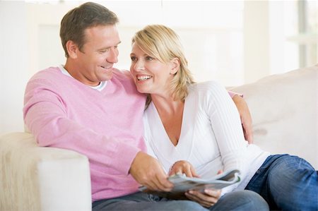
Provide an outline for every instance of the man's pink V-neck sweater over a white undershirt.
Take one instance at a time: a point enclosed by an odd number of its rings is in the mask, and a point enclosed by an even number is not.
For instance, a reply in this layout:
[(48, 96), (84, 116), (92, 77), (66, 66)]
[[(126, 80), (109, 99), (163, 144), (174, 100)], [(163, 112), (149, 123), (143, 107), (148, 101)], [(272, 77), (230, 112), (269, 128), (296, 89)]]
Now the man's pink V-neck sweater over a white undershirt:
[(137, 191), (128, 172), (136, 153), (146, 151), (145, 100), (128, 71), (114, 69), (112, 80), (98, 91), (52, 67), (30, 79), (23, 116), (40, 146), (88, 157), (95, 201)]

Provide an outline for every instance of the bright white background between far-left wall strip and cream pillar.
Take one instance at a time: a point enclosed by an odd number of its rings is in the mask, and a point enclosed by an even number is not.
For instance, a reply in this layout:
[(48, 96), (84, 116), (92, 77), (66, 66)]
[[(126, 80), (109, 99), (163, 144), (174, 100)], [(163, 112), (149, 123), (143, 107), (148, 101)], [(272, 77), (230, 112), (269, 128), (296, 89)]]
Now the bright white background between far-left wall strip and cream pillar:
[[(189, 67), (197, 81), (220, 80), (225, 85), (238, 85), (242, 77), (242, 17), (241, 2), (223, 1), (100, 1), (119, 16), (119, 63), (128, 69), (131, 37), (147, 24), (165, 24), (181, 37)], [(59, 40), (59, 22), (77, 1), (64, 4), (28, 4), (28, 44), (30, 73), (64, 63)], [(217, 8), (216, 8), (217, 7)], [(218, 8), (231, 13), (222, 13)], [(214, 9), (211, 13), (211, 9)], [(242, 8), (240, 8), (242, 10)], [(195, 14), (192, 14), (195, 12)], [(189, 15), (192, 14), (192, 15)], [(175, 18), (175, 17), (178, 18)], [(179, 21), (182, 20), (182, 21)], [(45, 52), (45, 54), (40, 53)], [(55, 56), (54, 56), (55, 55)], [(230, 57), (230, 58), (229, 58)], [(230, 62), (229, 62), (230, 61)]]

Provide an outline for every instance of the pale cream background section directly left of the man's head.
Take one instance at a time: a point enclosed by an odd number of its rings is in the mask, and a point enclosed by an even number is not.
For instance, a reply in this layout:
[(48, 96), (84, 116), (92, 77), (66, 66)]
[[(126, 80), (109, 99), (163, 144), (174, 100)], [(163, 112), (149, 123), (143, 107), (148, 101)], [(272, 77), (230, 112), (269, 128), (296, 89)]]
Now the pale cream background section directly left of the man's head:
[(64, 64), (66, 59), (59, 38), (61, 18), (78, 6), (77, 1), (64, 4), (25, 4), (27, 28), (28, 73)]

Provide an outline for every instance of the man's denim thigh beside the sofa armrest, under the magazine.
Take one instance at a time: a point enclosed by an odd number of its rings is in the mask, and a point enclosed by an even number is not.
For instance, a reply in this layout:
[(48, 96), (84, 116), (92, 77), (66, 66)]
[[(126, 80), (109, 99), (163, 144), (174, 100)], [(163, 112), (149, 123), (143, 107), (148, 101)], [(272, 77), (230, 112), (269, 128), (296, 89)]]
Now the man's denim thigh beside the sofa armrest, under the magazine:
[(92, 210), (207, 211), (206, 208), (191, 200), (167, 200), (146, 193), (133, 193), (118, 198), (99, 200), (93, 203)]

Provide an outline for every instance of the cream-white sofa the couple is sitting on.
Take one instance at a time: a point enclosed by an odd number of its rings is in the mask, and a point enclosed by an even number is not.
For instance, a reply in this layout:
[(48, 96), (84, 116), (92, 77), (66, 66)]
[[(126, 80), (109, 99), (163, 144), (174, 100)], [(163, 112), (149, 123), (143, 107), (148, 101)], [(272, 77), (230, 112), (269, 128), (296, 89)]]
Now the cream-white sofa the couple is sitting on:
[[(268, 76), (232, 90), (244, 93), (254, 143), (272, 153), (317, 160), (318, 65)], [(0, 210), (91, 210), (88, 159), (37, 147), (30, 133), (0, 137)]]

